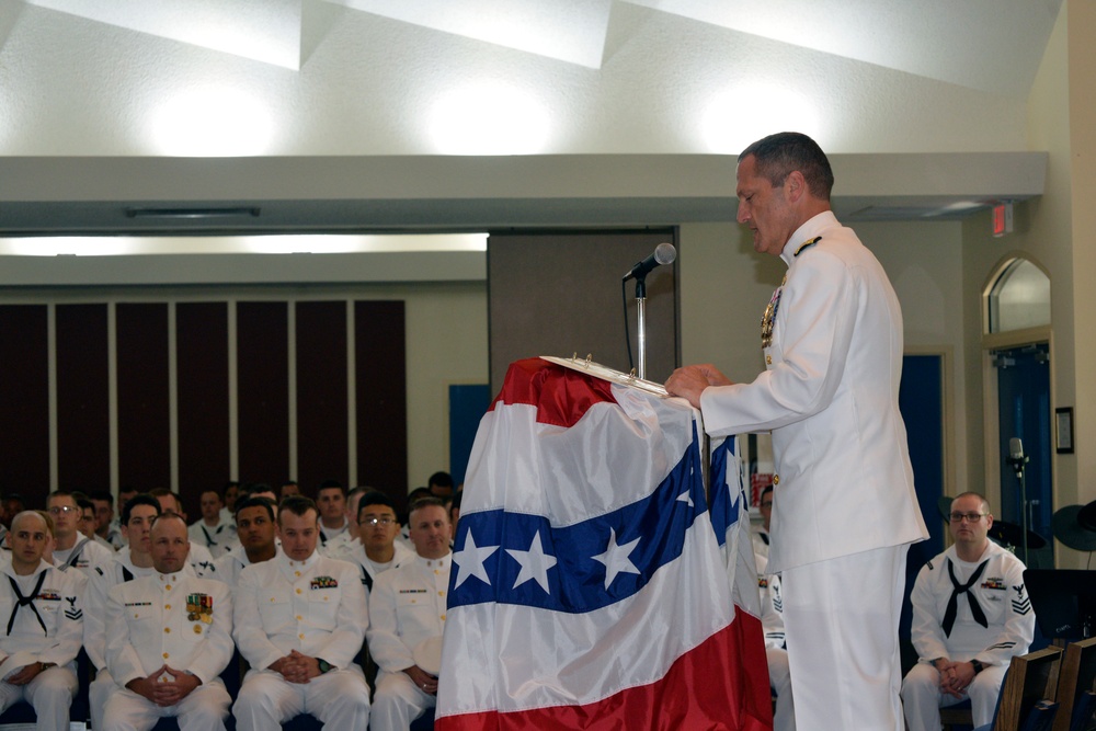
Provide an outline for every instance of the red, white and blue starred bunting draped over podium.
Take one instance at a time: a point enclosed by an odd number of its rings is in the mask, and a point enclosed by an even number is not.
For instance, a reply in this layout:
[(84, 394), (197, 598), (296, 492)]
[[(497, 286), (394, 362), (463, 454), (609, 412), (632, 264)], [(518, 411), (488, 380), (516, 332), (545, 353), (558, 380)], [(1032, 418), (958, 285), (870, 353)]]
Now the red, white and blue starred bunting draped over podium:
[(737, 460), (713, 450), (709, 512), (698, 430), (683, 400), (511, 365), (465, 480), (438, 731), (772, 728)]

